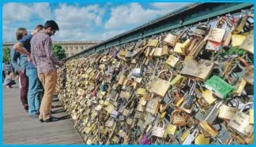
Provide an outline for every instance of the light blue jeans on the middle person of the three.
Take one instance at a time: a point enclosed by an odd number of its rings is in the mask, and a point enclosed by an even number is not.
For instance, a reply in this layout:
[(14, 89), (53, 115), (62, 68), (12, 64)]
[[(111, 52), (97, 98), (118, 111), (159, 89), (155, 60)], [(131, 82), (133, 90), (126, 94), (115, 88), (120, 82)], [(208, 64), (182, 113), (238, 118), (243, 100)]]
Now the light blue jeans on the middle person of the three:
[(40, 112), (40, 79), (37, 75), (36, 68), (28, 68), (28, 114), (34, 115)]

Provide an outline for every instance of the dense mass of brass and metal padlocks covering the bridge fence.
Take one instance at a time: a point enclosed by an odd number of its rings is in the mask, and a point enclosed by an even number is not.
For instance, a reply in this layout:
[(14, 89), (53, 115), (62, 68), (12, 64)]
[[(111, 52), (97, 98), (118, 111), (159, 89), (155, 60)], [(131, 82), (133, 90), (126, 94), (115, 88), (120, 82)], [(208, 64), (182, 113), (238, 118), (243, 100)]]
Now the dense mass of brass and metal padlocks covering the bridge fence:
[(66, 62), (58, 97), (91, 144), (253, 144), (253, 14)]

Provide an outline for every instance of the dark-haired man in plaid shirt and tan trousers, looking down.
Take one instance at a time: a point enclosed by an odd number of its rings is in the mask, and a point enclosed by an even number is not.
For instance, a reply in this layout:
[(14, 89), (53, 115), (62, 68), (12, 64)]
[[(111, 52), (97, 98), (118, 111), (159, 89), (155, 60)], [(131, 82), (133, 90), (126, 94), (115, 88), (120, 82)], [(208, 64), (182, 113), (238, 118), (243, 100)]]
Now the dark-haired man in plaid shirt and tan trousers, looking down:
[(40, 122), (57, 121), (51, 116), (52, 98), (57, 84), (56, 65), (63, 66), (62, 61), (58, 61), (52, 48), (51, 35), (58, 31), (58, 24), (54, 20), (48, 20), (40, 31), (31, 40), (32, 62), (37, 68), (38, 77), (43, 84), (44, 94), (40, 105)]

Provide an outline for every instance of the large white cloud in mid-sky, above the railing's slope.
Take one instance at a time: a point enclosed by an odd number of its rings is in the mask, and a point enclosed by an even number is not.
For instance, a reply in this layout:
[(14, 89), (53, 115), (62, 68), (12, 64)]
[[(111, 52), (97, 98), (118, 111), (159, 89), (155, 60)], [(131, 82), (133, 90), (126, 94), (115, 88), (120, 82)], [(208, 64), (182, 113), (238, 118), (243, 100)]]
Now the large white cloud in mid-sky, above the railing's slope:
[(144, 9), (138, 3), (117, 6), (111, 9), (111, 18), (107, 20), (105, 28), (122, 28), (129, 24), (143, 24), (167, 12), (164, 9)]

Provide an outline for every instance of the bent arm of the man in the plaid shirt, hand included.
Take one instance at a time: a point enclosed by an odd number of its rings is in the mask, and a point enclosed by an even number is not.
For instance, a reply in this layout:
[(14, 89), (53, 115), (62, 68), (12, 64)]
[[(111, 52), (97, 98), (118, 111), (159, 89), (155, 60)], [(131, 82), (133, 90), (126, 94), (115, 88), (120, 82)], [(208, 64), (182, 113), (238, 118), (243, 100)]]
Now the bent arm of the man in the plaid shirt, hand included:
[(47, 58), (49, 58), (53, 63), (57, 64), (58, 66), (63, 65), (63, 62), (58, 61), (57, 57), (55, 57), (55, 55), (53, 53), (52, 42), (51, 42), (51, 37), (50, 36), (47, 37), (47, 39), (45, 39), (44, 49), (47, 53)]

